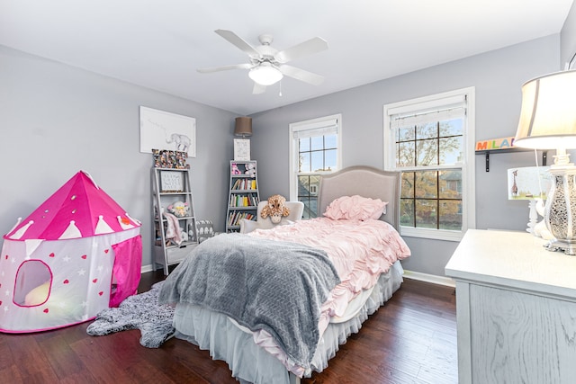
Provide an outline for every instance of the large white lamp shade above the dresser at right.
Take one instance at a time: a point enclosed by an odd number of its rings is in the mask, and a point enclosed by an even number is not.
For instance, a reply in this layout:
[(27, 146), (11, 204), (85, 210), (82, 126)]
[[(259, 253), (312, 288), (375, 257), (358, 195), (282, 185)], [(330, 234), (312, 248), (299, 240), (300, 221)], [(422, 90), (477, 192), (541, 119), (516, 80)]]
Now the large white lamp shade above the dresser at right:
[(576, 148), (576, 70), (536, 77), (522, 86), (514, 146)]

